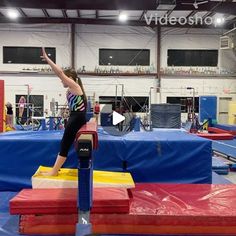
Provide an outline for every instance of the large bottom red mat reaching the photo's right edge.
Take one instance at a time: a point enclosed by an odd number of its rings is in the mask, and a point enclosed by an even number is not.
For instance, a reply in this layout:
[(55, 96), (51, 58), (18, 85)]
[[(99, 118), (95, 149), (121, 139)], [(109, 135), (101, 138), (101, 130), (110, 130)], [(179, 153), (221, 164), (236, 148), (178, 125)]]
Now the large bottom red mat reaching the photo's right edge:
[[(129, 214), (93, 213), (100, 234), (236, 235), (236, 186), (136, 184)], [(20, 233), (73, 234), (77, 215), (23, 215)]]

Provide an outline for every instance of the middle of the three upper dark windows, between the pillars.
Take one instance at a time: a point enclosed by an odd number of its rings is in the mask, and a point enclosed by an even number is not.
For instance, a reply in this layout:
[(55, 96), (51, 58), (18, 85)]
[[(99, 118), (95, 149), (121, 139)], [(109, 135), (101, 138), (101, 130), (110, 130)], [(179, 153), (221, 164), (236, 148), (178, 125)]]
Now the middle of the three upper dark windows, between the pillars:
[(99, 49), (99, 65), (149, 66), (149, 49)]

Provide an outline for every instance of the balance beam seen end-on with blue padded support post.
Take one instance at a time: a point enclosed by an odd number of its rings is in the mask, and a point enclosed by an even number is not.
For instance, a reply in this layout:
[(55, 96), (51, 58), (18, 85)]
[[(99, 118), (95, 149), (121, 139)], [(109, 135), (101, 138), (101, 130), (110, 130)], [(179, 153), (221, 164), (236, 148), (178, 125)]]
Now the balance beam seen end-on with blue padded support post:
[(93, 160), (92, 152), (98, 147), (97, 123), (94, 119), (81, 127), (76, 134), (78, 163), (78, 215), (76, 236), (92, 232), (90, 210), (93, 203)]

